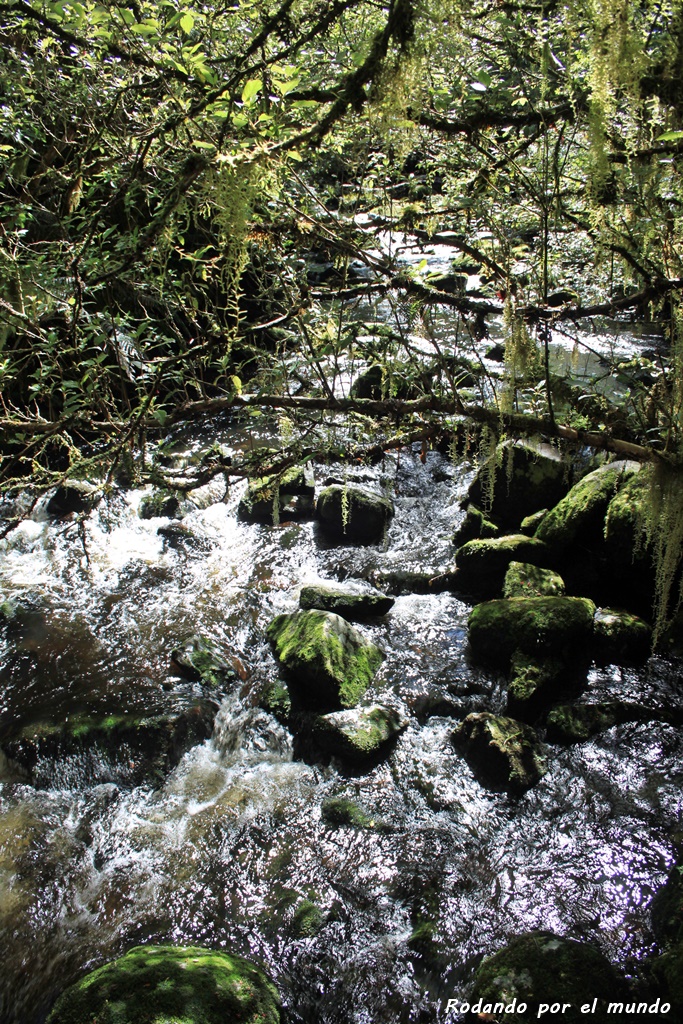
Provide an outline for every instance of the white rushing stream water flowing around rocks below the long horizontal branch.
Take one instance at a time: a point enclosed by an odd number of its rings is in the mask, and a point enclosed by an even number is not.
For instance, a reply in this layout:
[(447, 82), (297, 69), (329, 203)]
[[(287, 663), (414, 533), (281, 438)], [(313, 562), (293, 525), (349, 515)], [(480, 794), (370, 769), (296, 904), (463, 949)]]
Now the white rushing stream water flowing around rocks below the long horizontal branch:
[[(163, 523), (137, 515), (140, 493), (125, 492), (83, 537), (40, 508), (9, 535), (0, 592), (33, 598), (34, 612), (0, 641), (3, 731), (74, 709), (182, 706), (193, 684), (169, 652), (191, 633), (216, 639), (245, 678), (212, 739), (159, 788), (131, 785), (125, 763), (97, 750), (46, 757), (38, 785), (0, 766), (3, 1022), (39, 1024), (84, 969), (153, 940), (253, 956), (307, 1024), (445, 1020), (480, 956), (536, 927), (593, 939), (637, 974), (679, 827), (678, 730), (630, 724), (553, 746), (523, 797), (487, 792), (451, 733), (472, 710), (501, 710), (504, 681), (468, 663), (468, 605), (447, 593), (403, 593), (361, 627), (386, 653), (373, 693), (410, 714), (378, 766), (294, 760), (287, 730), (257, 706), (276, 676), (270, 617), (314, 580), (442, 572), (471, 473), (417, 452), (358, 469), (396, 504), (384, 543), (367, 548), (332, 546), (313, 523), (240, 522), (239, 490), (185, 517), (195, 547), (165, 544)], [(680, 700), (676, 668), (656, 659), (593, 670), (588, 688)], [(322, 806), (338, 796), (381, 827), (330, 824)], [(425, 922), (432, 939), (414, 948)]]

